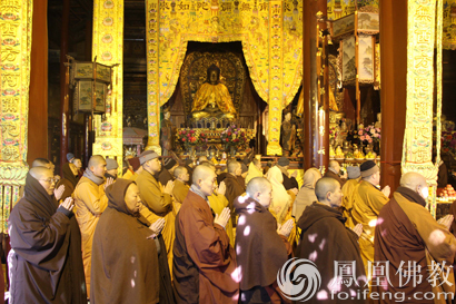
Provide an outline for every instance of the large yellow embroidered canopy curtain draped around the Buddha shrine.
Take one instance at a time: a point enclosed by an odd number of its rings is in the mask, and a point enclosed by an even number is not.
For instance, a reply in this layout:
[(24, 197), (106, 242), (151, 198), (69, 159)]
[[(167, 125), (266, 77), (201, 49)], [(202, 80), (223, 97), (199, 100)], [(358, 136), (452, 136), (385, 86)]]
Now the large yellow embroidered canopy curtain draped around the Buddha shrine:
[(171, 97), (188, 41), (241, 41), (254, 87), (269, 106), (272, 100), (281, 109), (297, 94), (303, 78), (301, 1), (147, 0), (146, 8), (149, 106), (162, 106)]

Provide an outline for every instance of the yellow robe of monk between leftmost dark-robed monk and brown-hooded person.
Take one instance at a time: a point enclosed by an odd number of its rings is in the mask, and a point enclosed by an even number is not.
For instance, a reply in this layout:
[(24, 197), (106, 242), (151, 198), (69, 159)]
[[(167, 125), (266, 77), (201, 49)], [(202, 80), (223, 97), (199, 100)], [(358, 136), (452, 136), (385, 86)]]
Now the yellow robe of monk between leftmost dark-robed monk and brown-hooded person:
[(92, 261), (92, 241), (95, 229), (101, 214), (108, 207), (105, 183), (97, 185), (82, 176), (73, 192), (75, 215), (81, 231), (83, 273), (86, 275), (87, 294), (90, 295), (90, 271)]

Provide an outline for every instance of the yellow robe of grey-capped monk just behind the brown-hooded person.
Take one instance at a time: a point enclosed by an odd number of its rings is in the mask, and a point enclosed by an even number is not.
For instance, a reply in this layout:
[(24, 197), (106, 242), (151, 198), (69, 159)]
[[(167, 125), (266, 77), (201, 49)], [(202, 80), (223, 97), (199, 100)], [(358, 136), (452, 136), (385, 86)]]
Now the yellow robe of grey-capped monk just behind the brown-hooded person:
[(140, 208), (141, 218), (146, 218), (146, 224), (150, 225), (160, 217), (165, 218), (165, 227), (161, 231), (166, 251), (168, 253), (169, 269), (172, 269), (172, 245), (175, 243), (175, 222), (176, 213), (172, 197), (162, 192), (161, 185), (155, 179), (153, 175), (143, 170), (138, 175), (136, 184), (141, 195), (143, 207)]

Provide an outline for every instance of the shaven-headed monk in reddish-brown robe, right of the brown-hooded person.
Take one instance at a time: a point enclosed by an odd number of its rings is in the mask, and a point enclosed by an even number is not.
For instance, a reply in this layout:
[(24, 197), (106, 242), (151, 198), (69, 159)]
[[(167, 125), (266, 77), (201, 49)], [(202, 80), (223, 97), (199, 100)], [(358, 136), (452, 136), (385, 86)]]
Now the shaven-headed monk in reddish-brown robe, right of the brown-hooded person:
[(236, 255), (225, 227), (229, 208), (214, 217), (208, 196), (216, 174), (198, 166), (176, 218), (172, 276), (177, 303), (238, 303)]

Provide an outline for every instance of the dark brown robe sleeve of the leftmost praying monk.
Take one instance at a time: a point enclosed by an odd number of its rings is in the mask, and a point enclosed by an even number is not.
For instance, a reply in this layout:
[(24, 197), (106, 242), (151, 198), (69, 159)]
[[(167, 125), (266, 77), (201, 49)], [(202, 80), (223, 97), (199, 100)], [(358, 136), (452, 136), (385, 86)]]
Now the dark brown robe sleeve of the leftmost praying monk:
[(10, 217), (11, 248), (40, 268), (59, 271), (60, 263), (53, 263), (52, 258), (65, 245), (69, 217), (56, 212), (49, 220), (43, 220), (32, 208), (16, 207), (17, 214)]

